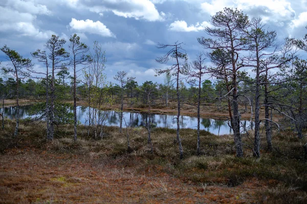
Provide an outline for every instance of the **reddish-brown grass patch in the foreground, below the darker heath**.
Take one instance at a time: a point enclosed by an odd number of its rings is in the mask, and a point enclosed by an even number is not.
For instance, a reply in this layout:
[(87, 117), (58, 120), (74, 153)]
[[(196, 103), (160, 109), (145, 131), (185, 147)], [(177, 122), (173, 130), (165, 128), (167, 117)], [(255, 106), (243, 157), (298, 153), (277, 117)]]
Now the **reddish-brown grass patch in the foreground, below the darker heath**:
[(229, 188), (193, 184), (155, 166), (138, 172), (105, 160), (37, 149), (12, 149), (1, 156), (1, 203), (250, 203), (264, 182), (250, 180)]

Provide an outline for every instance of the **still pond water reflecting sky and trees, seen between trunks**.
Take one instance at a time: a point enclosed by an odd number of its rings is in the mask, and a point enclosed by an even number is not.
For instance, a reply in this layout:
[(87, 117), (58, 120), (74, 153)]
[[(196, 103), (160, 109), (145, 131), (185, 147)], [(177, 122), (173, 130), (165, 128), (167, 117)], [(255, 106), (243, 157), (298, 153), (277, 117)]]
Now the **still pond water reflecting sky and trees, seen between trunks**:
[[(20, 106), (19, 108), (19, 117), (20, 119), (25, 118), (39, 118), (40, 113), (39, 112), (33, 112), (34, 105), (24, 105)], [(5, 107), (4, 108), (4, 116), (8, 119), (14, 119), (16, 115), (16, 108), (13, 106)], [(73, 113), (72, 108), (66, 109), (67, 113)], [(2, 108), (0, 108), (0, 113), (2, 113)], [(100, 114), (103, 115), (103, 118), (105, 118), (104, 124), (107, 126), (119, 126), (120, 120), (119, 120), (119, 114), (118, 112), (114, 110), (108, 110), (108, 111), (100, 111)], [(89, 107), (77, 107), (77, 119), (79, 123), (86, 124), (88, 123), (88, 116), (89, 116)], [(146, 114), (142, 113), (140, 115), (136, 112), (123, 112), (123, 127), (126, 125), (128, 127), (139, 127), (144, 126), (144, 120), (146, 121), (148, 117), (151, 117), (151, 121), (154, 126), (156, 127), (166, 127), (169, 129), (176, 129), (177, 128), (177, 116), (176, 115), (166, 115), (166, 114)], [(250, 126), (250, 121), (248, 120), (242, 120), (242, 131), (245, 130), (244, 127), (248, 128)], [(181, 128), (191, 128), (191, 129), (197, 129), (197, 117), (193, 116), (180, 116), (180, 126)], [(222, 119), (213, 119), (213, 118), (201, 118), (201, 124), (200, 124), (201, 130), (206, 130), (210, 133), (213, 133), (215, 135), (225, 135), (225, 134), (232, 134), (232, 130), (228, 125), (227, 120)]]

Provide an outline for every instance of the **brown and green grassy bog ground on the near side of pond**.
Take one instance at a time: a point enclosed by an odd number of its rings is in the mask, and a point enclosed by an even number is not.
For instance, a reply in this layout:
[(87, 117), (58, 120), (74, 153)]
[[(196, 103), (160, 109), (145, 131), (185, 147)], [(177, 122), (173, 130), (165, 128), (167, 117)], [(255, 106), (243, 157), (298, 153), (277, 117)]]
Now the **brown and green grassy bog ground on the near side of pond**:
[[(195, 156), (196, 132), (181, 131), (185, 158), (179, 160), (176, 131), (152, 132), (154, 154), (143, 128), (125, 134), (106, 127), (101, 140), (87, 138), (79, 126), (58, 126), (45, 140), (43, 123), (21, 121), (0, 132), (0, 203), (306, 203), (306, 161), (302, 141), (289, 132), (274, 137), (274, 151), (262, 158), (235, 158), (231, 136), (201, 132), (202, 156)], [(83, 134), (82, 134), (83, 133)], [(249, 140), (244, 138), (244, 142)], [(262, 145), (265, 146), (265, 143)]]

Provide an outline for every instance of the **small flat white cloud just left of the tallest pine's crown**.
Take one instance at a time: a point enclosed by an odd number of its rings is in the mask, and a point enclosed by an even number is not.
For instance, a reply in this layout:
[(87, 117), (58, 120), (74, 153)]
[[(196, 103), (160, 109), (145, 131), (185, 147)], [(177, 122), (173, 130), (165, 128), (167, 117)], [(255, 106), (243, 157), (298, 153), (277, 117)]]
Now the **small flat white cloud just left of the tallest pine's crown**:
[(184, 20), (176, 20), (169, 25), (169, 30), (177, 32), (198, 32), (204, 30), (206, 27), (211, 27), (211, 24), (207, 21), (202, 23), (197, 22), (195, 25), (188, 26)]

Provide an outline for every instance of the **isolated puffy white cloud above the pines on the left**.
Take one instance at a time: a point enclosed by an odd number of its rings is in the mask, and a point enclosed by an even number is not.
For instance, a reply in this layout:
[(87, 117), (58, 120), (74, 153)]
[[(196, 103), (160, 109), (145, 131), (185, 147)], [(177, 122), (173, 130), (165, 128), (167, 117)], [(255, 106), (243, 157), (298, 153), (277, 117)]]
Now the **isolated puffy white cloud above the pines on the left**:
[(96, 35), (101, 35), (103, 37), (115, 37), (115, 35), (108, 29), (106, 26), (97, 20), (94, 22), (93, 20), (86, 19), (77, 20), (72, 18), (72, 21), (69, 23), (72, 30), (81, 32), (81, 33), (91, 33)]

